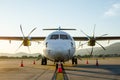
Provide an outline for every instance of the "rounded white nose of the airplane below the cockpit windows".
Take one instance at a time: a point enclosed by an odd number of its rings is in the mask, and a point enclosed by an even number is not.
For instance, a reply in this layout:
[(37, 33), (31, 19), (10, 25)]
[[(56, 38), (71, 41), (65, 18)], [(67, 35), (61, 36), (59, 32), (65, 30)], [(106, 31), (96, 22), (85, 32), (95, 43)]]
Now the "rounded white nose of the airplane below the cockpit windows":
[(68, 42), (47, 42), (46, 49), (44, 50), (46, 56), (54, 61), (63, 61), (71, 58), (74, 50), (71, 48), (71, 44)]

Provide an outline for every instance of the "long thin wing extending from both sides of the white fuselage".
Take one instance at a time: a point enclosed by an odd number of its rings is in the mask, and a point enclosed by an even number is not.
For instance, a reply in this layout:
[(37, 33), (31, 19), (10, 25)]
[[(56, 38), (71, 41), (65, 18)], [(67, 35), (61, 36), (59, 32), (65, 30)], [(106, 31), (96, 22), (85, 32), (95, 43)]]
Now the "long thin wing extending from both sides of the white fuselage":
[[(87, 37), (73, 37), (75, 41), (87, 41)], [(23, 37), (17, 36), (0, 36), (0, 40), (18, 40), (22, 41)], [(43, 41), (45, 37), (30, 37), (31, 41)], [(120, 36), (96, 37), (96, 40), (120, 40)]]

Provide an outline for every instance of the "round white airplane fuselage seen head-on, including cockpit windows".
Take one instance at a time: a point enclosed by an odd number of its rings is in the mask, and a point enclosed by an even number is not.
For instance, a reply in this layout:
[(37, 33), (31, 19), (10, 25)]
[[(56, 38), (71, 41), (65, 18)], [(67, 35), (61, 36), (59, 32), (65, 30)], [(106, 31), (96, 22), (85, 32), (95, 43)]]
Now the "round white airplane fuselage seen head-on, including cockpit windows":
[(68, 61), (73, 57), (74, 53), (75, 41), (64, 31), (52, 32), (44, 41), (42, 55), (51, 61)]

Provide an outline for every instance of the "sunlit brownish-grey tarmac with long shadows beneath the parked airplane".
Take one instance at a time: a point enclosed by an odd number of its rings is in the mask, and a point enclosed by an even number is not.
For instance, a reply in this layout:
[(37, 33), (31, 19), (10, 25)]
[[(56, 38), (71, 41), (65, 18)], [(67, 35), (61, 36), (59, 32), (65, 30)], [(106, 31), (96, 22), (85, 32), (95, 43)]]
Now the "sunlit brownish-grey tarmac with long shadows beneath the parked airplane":
[[(63, 65), (69, 80), (120, 80), (120, 57), (100, 58), (98, 66), (93, 58), (78, 60), (78, 65), (71, 61)], [(0, 80), (52, 80), (54, 71), (51, 61), (41, 65), (40, 60), (34, 64), (34, 59), (0, 59)]]

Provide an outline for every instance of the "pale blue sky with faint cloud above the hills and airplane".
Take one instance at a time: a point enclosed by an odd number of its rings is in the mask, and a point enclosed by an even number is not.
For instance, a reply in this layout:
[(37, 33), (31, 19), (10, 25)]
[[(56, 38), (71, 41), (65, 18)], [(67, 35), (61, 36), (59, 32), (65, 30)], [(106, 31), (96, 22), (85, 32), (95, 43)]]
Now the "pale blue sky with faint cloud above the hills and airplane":
[[(75, 28), (67, 31), (72, 36), (120, 35), (120, 0), (0, 0), (0, 36), (22, 36), (35, 27), (31, 36), (47, 36), (52, 31), (44, 28)], [(14, 53), (20, 41), (0, 41), (0, 52)], [(39, 52), (41, 45), (32, 42), (31, 51)], [(28, 52), (22, 46), (18, 52)]]

